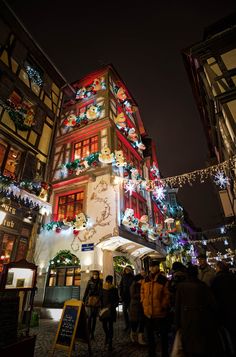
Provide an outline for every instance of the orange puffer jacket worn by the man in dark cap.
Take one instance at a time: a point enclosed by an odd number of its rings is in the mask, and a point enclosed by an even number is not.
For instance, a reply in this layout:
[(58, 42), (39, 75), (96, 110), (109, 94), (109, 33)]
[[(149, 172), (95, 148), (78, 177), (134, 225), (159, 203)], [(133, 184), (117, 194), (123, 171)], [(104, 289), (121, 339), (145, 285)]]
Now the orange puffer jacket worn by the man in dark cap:
[(149, 274), (141, 283), (141, 302), (148, 318), (163, 318), (169, 312), (170, 293), (168, 280), (160, 272)]

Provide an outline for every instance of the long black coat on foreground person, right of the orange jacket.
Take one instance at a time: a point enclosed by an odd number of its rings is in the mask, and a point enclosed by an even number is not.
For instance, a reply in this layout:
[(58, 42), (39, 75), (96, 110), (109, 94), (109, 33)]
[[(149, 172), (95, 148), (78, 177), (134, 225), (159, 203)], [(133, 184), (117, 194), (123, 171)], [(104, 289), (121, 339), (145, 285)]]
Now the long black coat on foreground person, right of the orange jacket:
[(218, 344), (216, 317), (216, 302), (205, 283), (196, 279), (179, 284), (176, 292), (175, 323), (182, 333), (186, 354), (222, 356), (221, 346)]

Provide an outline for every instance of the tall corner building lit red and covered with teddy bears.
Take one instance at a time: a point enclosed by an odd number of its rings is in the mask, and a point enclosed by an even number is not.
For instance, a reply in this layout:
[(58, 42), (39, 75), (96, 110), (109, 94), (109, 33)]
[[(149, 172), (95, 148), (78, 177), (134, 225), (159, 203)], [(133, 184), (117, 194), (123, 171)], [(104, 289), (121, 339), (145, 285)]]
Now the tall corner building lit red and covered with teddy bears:
[(166, 204), (154, 199), (161, 196), (153, 191), (160, 179), (155, 145), (117, 72), (108, 65), (72, 87), (51, 160), (53, 220), (36, 248), (44, 306), (78, 297), (91, 269), (113, 274), (115, 256), (127, 256), (136, 269), (150, 255), (164, 260), (170, 238), (161, 232), (176, 231), (168, 220), (171, 206), (178, 211), (176, 192), (169, 190)]

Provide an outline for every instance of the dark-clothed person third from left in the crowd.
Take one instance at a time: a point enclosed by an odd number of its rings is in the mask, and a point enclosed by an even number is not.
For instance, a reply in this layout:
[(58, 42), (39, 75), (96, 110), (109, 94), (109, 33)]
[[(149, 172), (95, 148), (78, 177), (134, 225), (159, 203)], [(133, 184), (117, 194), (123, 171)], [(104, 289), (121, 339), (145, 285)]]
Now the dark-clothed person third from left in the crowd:
[(130, 265), (124, 268), (120, 282), (120, 297), (123, 305), (123, 316), (125, 321), (125, 331), (130, 329), (129, 307), (130, 307), (130, 286), (134, 280), (133, 269)]

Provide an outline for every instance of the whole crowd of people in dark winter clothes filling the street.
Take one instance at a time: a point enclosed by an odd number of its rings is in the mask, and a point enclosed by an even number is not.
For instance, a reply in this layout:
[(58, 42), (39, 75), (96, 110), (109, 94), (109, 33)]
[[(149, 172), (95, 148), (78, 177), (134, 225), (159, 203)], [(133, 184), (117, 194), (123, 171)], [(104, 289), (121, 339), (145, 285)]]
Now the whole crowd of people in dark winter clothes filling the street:
[(215, 268), (200, 254), (198, 266), (175, 262), (167, 277), (160, 262), (151, 260), (149, 271), (136, 275), (126, 266), (118, 288), (111, 275), (102, 283), (94, 271), (83, 299), (91, 339), (99, 316), (104, 343), (112, 351), (122, 303), (124, 333), (132, 343), (146, 345), (149, 357), (157, 356), (157, 343), (162, 357), (236, 356), (236, 276), (224, 261)]

